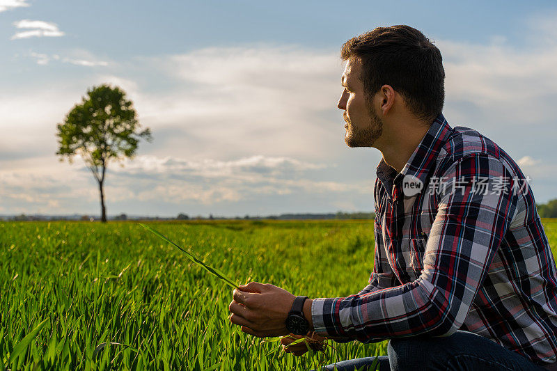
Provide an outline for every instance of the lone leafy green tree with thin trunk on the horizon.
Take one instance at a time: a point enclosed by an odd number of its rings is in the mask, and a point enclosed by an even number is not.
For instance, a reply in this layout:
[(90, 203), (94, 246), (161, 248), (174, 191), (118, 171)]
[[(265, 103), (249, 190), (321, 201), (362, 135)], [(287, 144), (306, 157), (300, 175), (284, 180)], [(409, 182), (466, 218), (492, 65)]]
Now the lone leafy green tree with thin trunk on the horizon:
[(99, 184), (101, 220), (107, 221), (104, 206), (104, 175), (109, 161), (132, 158), (140, 139), (151, 141), (150, 129), (139, 131), (136, 111), (125, 92), (107, 84), (87, 90), (81, 104), (76, 104), (58, 124), (60, 161), (80, 155)]

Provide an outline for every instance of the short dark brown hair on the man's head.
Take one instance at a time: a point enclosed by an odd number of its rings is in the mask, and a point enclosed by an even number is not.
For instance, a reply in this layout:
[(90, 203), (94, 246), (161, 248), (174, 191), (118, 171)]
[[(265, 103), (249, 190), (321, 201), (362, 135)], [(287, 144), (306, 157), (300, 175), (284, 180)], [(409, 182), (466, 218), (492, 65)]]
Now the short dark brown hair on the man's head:
[(445, 100), (445, 70), (441, 52), (420, 31), (406, 25), (377, 27), (344, 43), (343, 61), (358, 58), (368, 98), (390, 85), (405, 98), (409, 110), (434, 120)]

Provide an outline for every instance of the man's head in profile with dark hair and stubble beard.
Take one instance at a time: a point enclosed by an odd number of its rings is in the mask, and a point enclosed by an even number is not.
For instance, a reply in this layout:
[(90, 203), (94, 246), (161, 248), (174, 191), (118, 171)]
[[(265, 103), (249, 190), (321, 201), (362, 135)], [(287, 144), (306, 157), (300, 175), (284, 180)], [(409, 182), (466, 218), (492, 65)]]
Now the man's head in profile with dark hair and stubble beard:
[(350, 147), (372, 146), (382, 135), (384, 122), (373, 104), (382, 90), (402, 97), (416, 119), (431, 122), (441, 113), (441, 52), (420, 31), (404, 25), (378, 27), (345, 42), (340, 56), (347, 65), (338, 108), (345, 109)]

